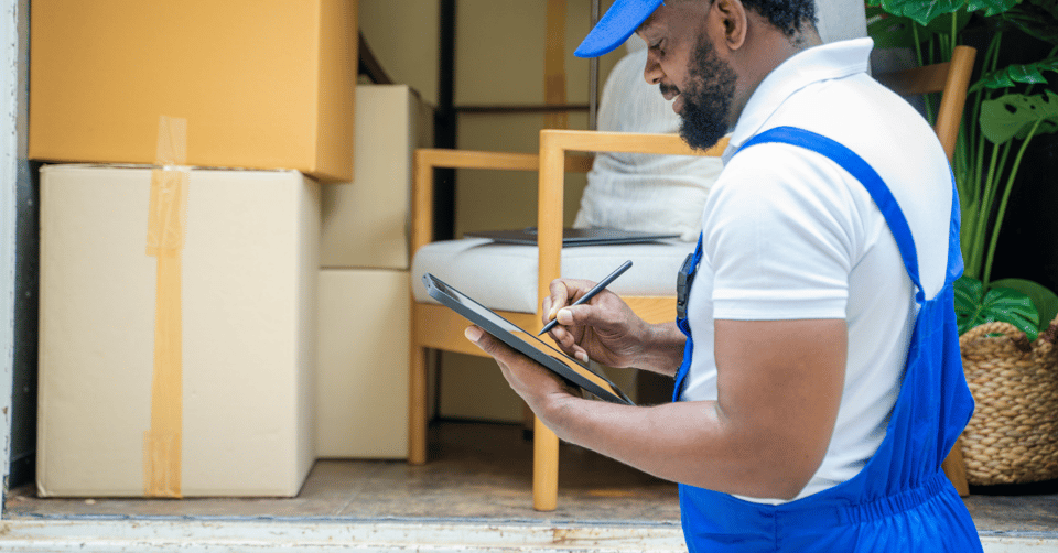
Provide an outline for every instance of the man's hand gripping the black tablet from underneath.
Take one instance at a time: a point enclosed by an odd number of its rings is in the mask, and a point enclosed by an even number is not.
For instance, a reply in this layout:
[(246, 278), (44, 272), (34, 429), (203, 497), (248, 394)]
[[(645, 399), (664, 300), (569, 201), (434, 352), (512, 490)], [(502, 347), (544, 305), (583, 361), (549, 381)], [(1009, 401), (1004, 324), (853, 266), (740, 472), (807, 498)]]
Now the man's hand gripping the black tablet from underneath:
[(468, 340), (496, 359), (510, 388), (526, 400), (529, 408), (542, 420), (547, 420), (547, 413), (553, 410), (557, 403), (580, 397), (580, 391), (558, 375), (515, 351), (479, 327), (469, 326), (464, 334)]

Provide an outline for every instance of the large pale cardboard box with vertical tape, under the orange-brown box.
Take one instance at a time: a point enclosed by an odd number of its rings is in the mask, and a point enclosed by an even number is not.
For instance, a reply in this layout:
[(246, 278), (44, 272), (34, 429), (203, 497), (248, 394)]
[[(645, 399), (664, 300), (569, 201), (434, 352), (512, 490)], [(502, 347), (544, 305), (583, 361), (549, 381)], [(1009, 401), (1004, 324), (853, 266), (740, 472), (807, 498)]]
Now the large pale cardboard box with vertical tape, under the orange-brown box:
[(319, 185), (192, 170), (170, 196), (150, 169), (51, 165), (41, 188), (40, 494), (295, 495)]

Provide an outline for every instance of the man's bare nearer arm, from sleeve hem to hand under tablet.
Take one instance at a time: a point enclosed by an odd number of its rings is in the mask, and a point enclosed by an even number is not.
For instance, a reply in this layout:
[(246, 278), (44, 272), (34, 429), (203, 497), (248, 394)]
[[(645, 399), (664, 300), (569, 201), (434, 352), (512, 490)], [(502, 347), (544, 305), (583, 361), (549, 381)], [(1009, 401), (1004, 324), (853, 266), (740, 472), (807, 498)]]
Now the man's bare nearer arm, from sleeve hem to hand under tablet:
[(660, 478), (791, 499), (825, 455), (844, 386), (845, 322), (716, 321), (717, 400), (585, 400), (479, 329), (467, 337), (559, 437)]

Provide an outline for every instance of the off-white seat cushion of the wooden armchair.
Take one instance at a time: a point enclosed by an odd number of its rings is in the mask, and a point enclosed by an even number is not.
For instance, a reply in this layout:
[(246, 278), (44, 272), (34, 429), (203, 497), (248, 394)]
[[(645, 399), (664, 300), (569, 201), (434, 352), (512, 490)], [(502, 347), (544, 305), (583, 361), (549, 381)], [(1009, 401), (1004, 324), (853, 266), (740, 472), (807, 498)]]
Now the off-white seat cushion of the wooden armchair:
[[(562, 276), (597, 282), (631, 260), (631, 269), (608, 290), (618, 295), (674, 296), (680, 265), (693, 251), (694, 242), (680, 240), (563, 248)], [(422, 275), (428, 272), (492, 310), (537, 312), (533, 246), (500, 245), (487, 238), (427, 245), (415, 253), (411, 265), (412, 290), (419, 303), (436, 303), (422, 284)]]

